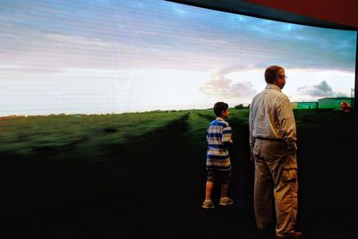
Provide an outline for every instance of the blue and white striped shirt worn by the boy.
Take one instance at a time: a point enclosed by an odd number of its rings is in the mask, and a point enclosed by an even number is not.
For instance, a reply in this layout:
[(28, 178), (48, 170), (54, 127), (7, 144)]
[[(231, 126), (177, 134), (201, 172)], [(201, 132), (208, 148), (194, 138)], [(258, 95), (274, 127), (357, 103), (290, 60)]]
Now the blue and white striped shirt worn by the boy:
[(207, 169), (230, 170), (231, 162), (227, 146), (231, 139), (231, 127), (224, 119), (217, 117), (209, 124), (207, 132)]

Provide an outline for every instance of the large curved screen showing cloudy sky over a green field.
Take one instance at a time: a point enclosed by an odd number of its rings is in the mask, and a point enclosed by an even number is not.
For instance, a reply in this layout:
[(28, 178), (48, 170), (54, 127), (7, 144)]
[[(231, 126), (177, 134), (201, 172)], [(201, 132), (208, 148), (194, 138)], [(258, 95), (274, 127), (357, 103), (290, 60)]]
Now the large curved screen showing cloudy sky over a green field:
[[(279, 64), (298, 225), (308, 239), (354, 238), (358, 127), (332, 105), (352, 103), (356, 40), (159, 0), (0, 0), (0, 237), (268, 238), (254, 223), (246, 106)], [(234, 107), (234, 204), (207, 213), (217, 101)]]

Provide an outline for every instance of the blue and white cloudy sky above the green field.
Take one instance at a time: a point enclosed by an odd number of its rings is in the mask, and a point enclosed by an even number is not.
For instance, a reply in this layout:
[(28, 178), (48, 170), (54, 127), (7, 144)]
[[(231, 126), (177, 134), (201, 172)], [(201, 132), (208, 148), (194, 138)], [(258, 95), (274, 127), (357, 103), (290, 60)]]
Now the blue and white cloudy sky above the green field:
[(0, 0), (0, 116), (248, 105), (272, 64), (293, 102), (351, 97), (356, 40), (163, 0)]

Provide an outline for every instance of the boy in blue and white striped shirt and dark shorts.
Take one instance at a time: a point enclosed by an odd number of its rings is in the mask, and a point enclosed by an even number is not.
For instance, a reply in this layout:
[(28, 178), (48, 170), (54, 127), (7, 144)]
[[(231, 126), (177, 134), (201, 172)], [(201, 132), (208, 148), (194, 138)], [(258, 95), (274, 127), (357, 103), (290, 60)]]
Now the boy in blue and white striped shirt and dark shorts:
[(233, 204), (233, 200), (226, 197), (229, 178), (231, 175), (231, 162), (228, 152), (228, 145), (232, 143), (231, 127), (225, 119), (229, 116), (228, 105), (224, 102), (217, 102), (214, 105), (214, 113), (217, 118), (209, 124), (207, 132), (208, 154), (207, 171), (208, 178), (205, 187), (205, 201), (203, 209), (214, 209), (211, 201), (211, 192), (214, 181), (221, 184), (221, 198), (219, 205), (226, 206)]

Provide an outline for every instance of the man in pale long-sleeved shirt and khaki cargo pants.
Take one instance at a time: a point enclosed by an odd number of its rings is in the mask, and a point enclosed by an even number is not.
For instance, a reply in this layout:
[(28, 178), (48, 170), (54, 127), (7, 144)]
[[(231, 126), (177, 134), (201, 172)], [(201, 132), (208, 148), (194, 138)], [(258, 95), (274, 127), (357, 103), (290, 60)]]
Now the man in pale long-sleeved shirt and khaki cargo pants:
[(296, 125), (290, 100), (281, 92), (286, 84), (285, 69), (269, 66), (265, 81), (265, 90), (252, 99), (250, 106), (256, 224), (262, 230), (273, 225), (275, 202), (277, 239), (301, 238), (302, 233), (294, 230), (298, 189)]

